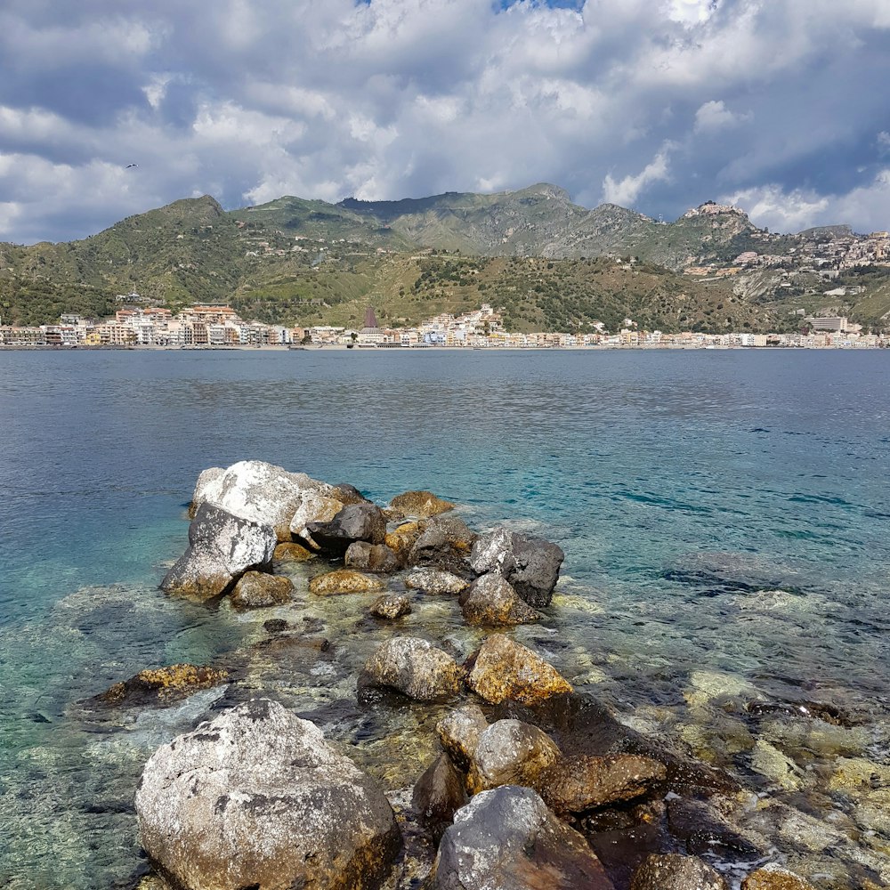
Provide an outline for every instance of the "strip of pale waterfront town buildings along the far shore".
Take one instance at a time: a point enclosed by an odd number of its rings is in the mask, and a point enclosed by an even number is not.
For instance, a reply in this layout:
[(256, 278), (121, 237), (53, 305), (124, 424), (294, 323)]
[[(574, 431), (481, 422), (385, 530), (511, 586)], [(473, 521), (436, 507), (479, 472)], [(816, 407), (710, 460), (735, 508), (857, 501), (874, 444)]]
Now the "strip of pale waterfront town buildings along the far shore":
[[(231, 306), (193, 305), (174, 315), (160, 306), (141, 306), (139, 295), (121, 295), (125, 305), (114, 317), (86, 319), (62, 315), (58, 324), (19, 327), (0, 323), (0, 348), (239, 349), (239, 348), (455, 348), (577, 349), (796, 347), (808, 349), (878, 349), (890, 347), (890, 334), (865, 334), (843, 316), (801, 318), (806, 333), (665, 334), (640, 329), (625, 319), (617, 332), (595, 324), (589, 332), (510, 333), (488, 303), (461, 315), (442, 313), (415, 328), (380, 327), (368, 308), (361, 328), (320, 325), (289, 328), (245, 321)], [(0, 320), (2, 322), (2, 320)]]

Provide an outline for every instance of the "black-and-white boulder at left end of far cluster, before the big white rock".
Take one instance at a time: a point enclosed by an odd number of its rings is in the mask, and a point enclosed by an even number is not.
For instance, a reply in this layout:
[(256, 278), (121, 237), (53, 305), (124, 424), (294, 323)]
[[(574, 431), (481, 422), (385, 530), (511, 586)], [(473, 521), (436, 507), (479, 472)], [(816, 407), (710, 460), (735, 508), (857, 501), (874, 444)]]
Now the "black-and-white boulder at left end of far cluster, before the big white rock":
[(271, 526), (202, 504), (189, 526), (189, 547), (161, 589), (199, 600), (222, 595), (246, 571), (270, 569), (275, 543)]

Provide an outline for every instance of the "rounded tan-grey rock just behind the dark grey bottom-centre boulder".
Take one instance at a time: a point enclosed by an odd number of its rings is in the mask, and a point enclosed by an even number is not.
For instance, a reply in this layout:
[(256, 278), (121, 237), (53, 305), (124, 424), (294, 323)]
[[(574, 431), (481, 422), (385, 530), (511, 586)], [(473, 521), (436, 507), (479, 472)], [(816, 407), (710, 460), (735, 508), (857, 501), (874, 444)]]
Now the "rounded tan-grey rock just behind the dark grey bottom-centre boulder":
[(473, 794), (499, 785), (537, 787), (538, 775), (559, 759), (554, 740), (521, 720), (498, 720), (479, 736), (467, 788)]

